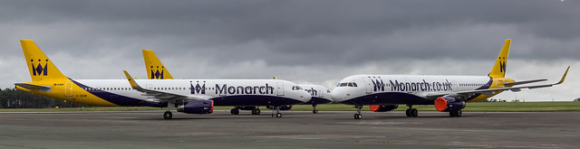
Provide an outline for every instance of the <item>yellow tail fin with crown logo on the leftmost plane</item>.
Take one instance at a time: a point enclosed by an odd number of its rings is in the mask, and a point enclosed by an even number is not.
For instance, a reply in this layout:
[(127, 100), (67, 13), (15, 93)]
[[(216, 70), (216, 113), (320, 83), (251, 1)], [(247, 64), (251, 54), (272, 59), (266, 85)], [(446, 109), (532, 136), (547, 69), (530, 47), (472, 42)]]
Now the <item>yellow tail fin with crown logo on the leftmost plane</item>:
[(54, 66), (53, 61), (49, 60), (43, 51), (32, 40), (20, 40), (24, 58), (30, 71), (30, 77), (33, 81), (45, 79), (66, 79), (66, 76)]

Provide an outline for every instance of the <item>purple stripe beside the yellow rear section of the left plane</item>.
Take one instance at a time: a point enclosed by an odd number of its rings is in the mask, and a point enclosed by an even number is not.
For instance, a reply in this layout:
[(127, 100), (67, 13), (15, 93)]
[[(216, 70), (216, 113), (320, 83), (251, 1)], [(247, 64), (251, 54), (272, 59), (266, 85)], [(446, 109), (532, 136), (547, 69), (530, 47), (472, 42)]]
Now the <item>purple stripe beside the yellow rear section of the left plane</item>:
[[(81, 87), (81, 88), (91, 88), (89, 86), (85, 86), (82, 83), (79, 83), (73, 79), (71, 79), (74, 84), (76, 84), (77, 86)], [(119, 105), (121, 107), (134, 107), (134, 106), (141, 106), (139, 104), (139, 102), (143, 101), (141, 99), (138, 98), (129, 98), (129, 97), (125, 97), (125, 96), (121, 96), (121, 95), (117, 95), (117, 94), (113, 94), (110, 92), (106, 92), (103, 90), (99, 90), (96, 88), (92, 88), (92, 90), (85, 90), (89, 93), (91, 93), (94, 96), (97, 96), (99, 98), (102, 98), (104, 100), (107, 100), (115, 105)]]

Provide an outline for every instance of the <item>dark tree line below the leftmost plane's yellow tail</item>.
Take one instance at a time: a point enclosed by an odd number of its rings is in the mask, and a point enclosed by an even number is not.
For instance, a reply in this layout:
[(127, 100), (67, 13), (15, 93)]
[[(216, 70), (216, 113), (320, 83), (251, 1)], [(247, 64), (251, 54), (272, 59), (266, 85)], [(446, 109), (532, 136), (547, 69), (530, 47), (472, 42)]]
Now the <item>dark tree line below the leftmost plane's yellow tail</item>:
[(0, 108), (93, 107), (89, 105), (46, 98), (16, 88), (0, 88)]

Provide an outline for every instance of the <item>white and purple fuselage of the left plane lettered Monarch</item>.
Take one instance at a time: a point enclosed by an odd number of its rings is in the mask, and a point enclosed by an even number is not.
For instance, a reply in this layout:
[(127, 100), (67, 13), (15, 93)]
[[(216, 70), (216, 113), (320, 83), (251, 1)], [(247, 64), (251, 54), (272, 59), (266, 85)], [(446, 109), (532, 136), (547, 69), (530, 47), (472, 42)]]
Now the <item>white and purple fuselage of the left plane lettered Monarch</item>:
[[(281, 79), (136, 79), (142, 88), (182, 96), (207, 97), (215, 106), (279, 106), (310, 100), (308, 92), (294, 89), (295, 83)], [(119, 106), (139, 106), (143, 96), (131, 88), (127, 79), (73, 79), (73, 82), (99, 98)], [(74, 90), (71, 90), (74, 93)], [(76, 96), (82, 96), (74, 94)]]

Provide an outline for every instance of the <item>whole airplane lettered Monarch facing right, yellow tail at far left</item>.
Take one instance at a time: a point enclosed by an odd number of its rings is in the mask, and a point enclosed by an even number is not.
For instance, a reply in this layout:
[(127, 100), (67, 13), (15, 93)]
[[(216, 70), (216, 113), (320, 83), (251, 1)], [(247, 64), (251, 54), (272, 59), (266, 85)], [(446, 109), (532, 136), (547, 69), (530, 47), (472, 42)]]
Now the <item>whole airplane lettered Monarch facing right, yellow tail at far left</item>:
[[(215, 102), (244, 105), (249, 100), (243, 98), (252, 98), (252, 103), (279, 108), (311, 98), (282, 79), (133, 79), (126, 71), (127, 79), (71, 79), (32, 40), (20, 42), (32, 81), (14, 83), (15, 88), (49, 98), (101, 107), (167, 107), (165, 119), (172, 118), (173, 107), (188, 114), (210, 114)], [(276, 112), (276, 117), (282, 116)]]

